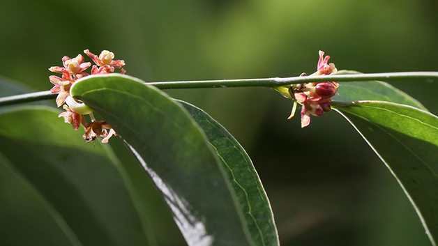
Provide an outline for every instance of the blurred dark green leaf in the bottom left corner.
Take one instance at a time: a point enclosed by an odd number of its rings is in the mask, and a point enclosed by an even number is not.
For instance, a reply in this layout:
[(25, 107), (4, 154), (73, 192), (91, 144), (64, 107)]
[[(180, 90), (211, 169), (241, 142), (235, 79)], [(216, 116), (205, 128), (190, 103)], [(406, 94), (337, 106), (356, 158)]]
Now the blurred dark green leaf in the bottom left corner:
[(56, 210), (0, 154), (0, 244), (80, 245)]

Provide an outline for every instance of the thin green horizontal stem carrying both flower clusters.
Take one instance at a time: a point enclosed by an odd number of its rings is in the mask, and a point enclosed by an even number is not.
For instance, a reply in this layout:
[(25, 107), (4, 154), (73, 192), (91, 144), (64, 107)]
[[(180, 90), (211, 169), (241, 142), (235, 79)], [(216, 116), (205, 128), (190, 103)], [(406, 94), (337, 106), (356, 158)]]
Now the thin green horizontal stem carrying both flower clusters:
[[(223, 79), (223, 80), (198, 80), (178, 82), (147, 82), (146, 84), (156, 86), (158, 89), (201, 89), (201, 88), (231, 88), (231, 87), (268, 87), (287, 86), (289, 84), (303, 84), (310, 82), (359, 82), (368, 80), (414, 80), (423, 79), (428, 81), (438, 80), (438, 72), (384, 72), (352, 75), (325, 75), (325, 76), (304, 76), (287, 78), (267, 79)], [(41, 91), (22, 95), (13, 95), (0, 98), (0, 106), (15, 105), (22, 102), (34, 102), (56, 98), (56, 94), (50, 91)]]

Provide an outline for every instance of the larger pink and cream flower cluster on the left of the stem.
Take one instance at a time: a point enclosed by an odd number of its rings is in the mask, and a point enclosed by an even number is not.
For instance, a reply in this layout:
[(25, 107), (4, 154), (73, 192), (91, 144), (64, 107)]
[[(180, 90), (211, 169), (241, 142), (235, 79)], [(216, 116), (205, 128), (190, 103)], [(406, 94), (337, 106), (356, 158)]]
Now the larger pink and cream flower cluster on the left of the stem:
[[(91, 53), (88, 49), (84, 50), (84, 53), (93, 60), (96, 65), (91, 68), (91, 74), (84, 72), (87, 68), (91, 67), (91, 63), (84, 62), (84, 56), (78, 54), (75, 58), (70, 59), (68, 56), (62, 58), (63, 67), (51, 67), (51, 72), (58, 72), (62, 76), (57, 77), (51, 75), (49, 77), (50, 82), (54, 84), (54, 87), (50, 90), (52, 93), (58, 93), (56, 97), (56, 105), (58, 107), (63, 106), (66, 112), (59, 114), (58, 117), (63, 117), (66, 123), (73, 125), (73, 129), (77, 130), (80, 125), (84, 127), (85, 142), (89, 143), (96, 140), (97, 137), (103, 137), (102, 142), (107, 143), (108, 139), (116, 132), (105, 121), (96, 121), (93, 116), (93, 112), (89, 107), (86, 107), (84, 103), (73, 99), (70, 96), (70, 87), (77, 79), (89, 75), (103, 75), (110, 72), (114, 72), (116, 68), (120, 68), (121, 74), (125, 74), (125, 70), (122, 68), (125, 66), (125, 61), (114, 60), (114, 53), (104, 50), (99, 56)], [(66, 105), (65, 105), (65, 104)], [(91, 123), (86, 122), (84, 115), (89, 114)]]

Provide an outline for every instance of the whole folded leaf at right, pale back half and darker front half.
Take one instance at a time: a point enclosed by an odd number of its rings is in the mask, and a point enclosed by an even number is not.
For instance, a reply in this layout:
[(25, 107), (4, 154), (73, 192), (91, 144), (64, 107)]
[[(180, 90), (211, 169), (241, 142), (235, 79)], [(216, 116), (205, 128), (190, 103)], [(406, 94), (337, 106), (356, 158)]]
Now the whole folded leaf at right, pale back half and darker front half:
[[(338, 74), (358, 74), (340, 71)], [(438, 238), (437, 117), (386, 82), (340, 82), (333, 108), (384, 161), (413, 204), (433, 245)]]

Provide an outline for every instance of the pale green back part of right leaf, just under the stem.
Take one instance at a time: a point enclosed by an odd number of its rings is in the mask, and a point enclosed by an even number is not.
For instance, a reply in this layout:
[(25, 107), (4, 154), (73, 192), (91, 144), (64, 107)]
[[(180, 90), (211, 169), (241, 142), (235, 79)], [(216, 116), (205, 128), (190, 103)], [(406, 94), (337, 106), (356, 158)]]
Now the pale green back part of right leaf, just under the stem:
[[(356, 75), (361, 72), (341, 70), (336, 75)], [(396, 102), (402, 105), (410, 105), (428, 111), (420, 102), (407, 93), (382, 81), (366, 82), (339, 82), (340, 86), (333, 97), (335, 102), (354, 102), (359, 100), (373, 100)]]

